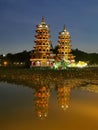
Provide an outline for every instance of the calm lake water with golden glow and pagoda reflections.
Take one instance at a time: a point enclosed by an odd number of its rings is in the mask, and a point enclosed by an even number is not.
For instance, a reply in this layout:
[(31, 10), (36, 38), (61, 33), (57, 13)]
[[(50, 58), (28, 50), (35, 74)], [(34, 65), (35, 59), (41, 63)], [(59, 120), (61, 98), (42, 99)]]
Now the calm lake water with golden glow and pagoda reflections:
[(35, 90), (0, 82), (0, 130), (98, 130), (98, 86)]

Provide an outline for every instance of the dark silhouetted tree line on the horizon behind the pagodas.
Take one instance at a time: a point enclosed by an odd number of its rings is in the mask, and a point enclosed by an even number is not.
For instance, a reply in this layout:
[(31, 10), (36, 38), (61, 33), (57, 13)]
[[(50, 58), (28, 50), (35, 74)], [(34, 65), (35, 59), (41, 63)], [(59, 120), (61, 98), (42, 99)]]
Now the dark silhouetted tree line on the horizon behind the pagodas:
[[(8, 53), (6, 56), (0, 55), (0, 66), (7, 61), (9, 66), (30, 67), (30, 57), (32, 51), (23, 51), (16, 54)], [(53, 53), (57, 54), (57, 46), (53, 49)], [(89, 65), (98, 64), (98, 53), (87, 53), (79, 49), (72, 49), (71, 52), (75, 56), (75, 61), (85, 61)]]

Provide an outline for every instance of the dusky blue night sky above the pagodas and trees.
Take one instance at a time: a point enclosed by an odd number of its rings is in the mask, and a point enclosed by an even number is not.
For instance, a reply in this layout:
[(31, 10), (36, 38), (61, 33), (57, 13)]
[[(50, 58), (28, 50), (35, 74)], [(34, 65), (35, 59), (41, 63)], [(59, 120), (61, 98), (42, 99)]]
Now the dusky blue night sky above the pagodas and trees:
[(53, 46), (65, 24), (72, 48), (98, 53), (98, 0), (0, 0), (0, 54), (32, 50), (42, 16)]

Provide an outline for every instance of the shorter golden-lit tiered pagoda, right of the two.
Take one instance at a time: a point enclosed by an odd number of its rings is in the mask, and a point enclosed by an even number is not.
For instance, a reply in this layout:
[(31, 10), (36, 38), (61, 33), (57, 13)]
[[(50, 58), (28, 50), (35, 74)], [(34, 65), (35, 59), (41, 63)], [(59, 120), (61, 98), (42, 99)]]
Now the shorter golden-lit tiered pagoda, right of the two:
[(70, 40), (71, 36), (66, 30), (65, 25), (63, 31), (59, 33), (58, 36), (58, 52), (57, 57), (61, 60), (74, 61), (74, 56), (71, 54)]

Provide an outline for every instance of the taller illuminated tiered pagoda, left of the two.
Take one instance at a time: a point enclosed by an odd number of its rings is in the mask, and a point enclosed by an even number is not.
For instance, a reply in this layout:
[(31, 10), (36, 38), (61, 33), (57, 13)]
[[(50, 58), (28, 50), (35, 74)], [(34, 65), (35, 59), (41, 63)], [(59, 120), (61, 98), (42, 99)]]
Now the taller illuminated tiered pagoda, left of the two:
[(50, 40), (49, 26), (45, 23), (44, 17), (36, 26), (34, 52), (31, 54), (31, 67), (50, 66), (52, 59), (52, 44)]

